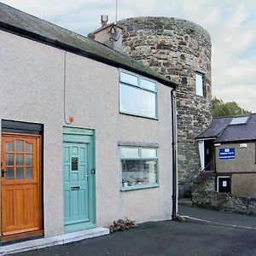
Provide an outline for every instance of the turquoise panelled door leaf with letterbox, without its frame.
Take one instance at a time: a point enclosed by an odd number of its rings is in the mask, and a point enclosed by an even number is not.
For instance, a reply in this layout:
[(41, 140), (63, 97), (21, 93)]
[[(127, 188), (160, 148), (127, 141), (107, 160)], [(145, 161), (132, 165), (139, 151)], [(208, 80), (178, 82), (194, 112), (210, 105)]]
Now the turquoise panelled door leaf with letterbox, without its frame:
[(89, 143), (64, 143), (65, 225), (85, 224), (89, 218)]

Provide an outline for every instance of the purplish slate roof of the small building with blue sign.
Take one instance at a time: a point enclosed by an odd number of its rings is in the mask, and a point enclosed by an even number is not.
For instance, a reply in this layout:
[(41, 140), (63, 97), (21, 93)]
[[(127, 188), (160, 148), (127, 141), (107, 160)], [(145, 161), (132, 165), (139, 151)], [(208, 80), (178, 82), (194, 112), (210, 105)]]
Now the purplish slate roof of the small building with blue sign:
[(216, 143), (256, 141), (256, 113), (247, 116), (249, 116), (247, 123), (241, 125), (230, 125), (233, 116), (213, 118), (207, 130), (196, 138), (216, 138)]

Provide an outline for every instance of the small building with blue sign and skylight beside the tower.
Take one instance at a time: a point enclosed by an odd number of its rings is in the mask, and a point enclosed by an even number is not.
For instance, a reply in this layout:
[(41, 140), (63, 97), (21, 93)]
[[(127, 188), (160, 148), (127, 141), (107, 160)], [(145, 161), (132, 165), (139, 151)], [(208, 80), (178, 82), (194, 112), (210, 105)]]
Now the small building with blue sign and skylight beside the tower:
[(213, 118), (196, 137), (201, 172), (214, 171), (216, 190), (256, 197), (256, 113)]

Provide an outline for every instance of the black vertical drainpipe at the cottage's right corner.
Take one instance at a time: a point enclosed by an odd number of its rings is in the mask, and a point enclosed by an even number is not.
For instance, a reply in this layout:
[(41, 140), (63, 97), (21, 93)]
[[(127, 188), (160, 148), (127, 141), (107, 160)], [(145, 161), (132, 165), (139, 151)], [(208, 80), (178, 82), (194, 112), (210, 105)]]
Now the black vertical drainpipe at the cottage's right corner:
[(172, 102), (172, 220), (177, 218), (177, 109), (176, 91), (171, 91)]

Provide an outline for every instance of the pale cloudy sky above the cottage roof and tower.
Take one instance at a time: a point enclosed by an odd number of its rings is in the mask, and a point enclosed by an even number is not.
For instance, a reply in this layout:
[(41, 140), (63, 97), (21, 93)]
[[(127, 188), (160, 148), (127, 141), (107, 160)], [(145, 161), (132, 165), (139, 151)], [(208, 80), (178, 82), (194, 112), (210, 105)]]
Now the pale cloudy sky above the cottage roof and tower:
[[(31, 15), (87, 35), (100, 16), (115, 19), (115, 0), (2, 0)], [(118, 20), (166, 16), (191, 20), (212, 38), (212, 96), (256, 113), (255, 0), (118, 0)]]

